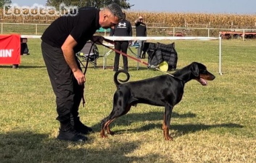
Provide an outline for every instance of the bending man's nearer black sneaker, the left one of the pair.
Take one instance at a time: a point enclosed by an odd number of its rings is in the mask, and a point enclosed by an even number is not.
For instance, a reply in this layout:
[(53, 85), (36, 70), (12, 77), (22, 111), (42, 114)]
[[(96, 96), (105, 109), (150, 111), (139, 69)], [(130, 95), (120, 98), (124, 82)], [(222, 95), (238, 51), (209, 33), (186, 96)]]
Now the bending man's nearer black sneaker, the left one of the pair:
[(57, 139), (73, 141), (73, 142), (84, 142), (87, 140), (87, 137), (80, 135), (77, 131), (72, 129), (69, 129), (69, 130), (59, 129), (59, 135), (57, 136)]

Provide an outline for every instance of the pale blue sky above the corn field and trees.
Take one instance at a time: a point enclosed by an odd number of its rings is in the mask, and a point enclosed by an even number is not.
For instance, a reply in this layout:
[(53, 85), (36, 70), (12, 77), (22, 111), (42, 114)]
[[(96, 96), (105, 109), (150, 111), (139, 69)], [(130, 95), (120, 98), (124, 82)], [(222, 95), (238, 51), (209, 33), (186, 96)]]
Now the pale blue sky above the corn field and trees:
[[(128, 0), (132, 11), (255, 14), (256, 0)], [(12, 0), (19, 6), (45, 5), (46, 0)]]

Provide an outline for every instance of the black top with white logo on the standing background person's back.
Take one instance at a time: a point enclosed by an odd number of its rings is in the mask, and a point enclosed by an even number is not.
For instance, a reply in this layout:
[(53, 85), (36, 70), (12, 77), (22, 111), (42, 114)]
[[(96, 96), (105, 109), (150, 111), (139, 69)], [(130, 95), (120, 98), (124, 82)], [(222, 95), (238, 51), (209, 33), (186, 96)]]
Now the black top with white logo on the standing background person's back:
[(128, 20), (121, 20), (114, 29), (111, 28), (110, 36), (132, 36), (132, 25)]

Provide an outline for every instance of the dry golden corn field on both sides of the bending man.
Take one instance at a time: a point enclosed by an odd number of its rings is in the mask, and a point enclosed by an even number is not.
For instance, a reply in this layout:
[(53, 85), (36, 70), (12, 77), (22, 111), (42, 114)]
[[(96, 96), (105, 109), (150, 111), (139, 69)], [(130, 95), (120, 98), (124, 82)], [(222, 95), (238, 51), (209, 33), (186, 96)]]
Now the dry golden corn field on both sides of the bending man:
[[(134, 21), (142, 16), (148, 27), (160, 27), (148, 29), (148, 35), (172, 35), (172, 29), (164, 27), (186, 27), (186, 28), (225, 28), (225, 29), (256, 29), (256, 15), (244, 14), (206, 14), (206, 13), (168, 13), (168, 12), (135, 12), (126, 11), (127, 20), (132, 25)], [(0, 22), (8, 23), (36, 23), (50, 24), (58, 16), (3, 16), (0, 9)], [(184, 35), (206, 36), (206, 30), (176, 30)], [(211, 30), (211, 36), (217, 36), (219, 30)]]

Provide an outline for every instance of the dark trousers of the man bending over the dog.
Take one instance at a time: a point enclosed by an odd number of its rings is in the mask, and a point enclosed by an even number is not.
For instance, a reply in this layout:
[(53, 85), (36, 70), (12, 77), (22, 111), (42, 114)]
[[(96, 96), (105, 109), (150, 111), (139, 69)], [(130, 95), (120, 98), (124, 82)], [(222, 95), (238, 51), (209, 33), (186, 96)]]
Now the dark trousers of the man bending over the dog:
[[(78, 117), (78, 108), (83, 95), (83, 87), (78, 85), (73, 72), (66, 63), (60, 48), (41, 43), (42, 55), (56, 96), (56, 118), (60, 122), (70, 121), (70, 116)], [(78, 63), (78, 60), (76, 58)], [(81, 70), (80, 64), (78, 67)]]

